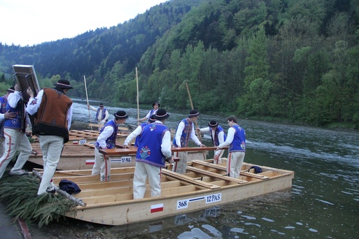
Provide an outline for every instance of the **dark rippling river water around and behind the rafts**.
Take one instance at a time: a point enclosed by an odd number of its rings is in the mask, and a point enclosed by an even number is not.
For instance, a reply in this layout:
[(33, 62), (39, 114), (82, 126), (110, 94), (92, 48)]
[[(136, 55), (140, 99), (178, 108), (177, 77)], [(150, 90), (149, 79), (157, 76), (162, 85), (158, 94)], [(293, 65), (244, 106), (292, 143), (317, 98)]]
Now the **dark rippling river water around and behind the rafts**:
[[(107, 108), (110, 119), (121, 109), (130, 116), (126, 124), (137, 125), (137, 109)], [(140, 109), (139, 117), (148, 110)], [(169, 111), (166, 125), (175, 129), (188, 112)], [(85, 102), (74, 102), (73, 120), (89, 122)], [(197, 124), (204, 127), (210, 120), (228, 129), (226, 117), (200, 115)], [(111, 227), (113, 238), (359, 238), (359, 133), (243, 119), (238, 123), (246, 131), (244, 162), (295, 171), (290, 190)], [(211, 146), (208, 135), (202, 140)]]

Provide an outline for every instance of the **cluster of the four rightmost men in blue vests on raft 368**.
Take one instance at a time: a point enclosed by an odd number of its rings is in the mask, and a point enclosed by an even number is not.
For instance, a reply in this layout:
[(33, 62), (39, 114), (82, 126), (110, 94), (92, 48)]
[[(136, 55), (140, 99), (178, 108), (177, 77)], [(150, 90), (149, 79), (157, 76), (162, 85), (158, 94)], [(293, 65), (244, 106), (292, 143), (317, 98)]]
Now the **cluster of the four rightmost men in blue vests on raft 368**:
[[(159, 106), (158, 103), (155, 104)], [(148, 118), (147, 123), (139, 125), (135, 131), (126, 137), (124, 148), (129, 148), (128, 144), (136, 139), (137, 154), (133, 178), (134, 199), (144, 198), (147, 179), (151, 189), (151, 197), (161, 195), (161, 170), (166, 161), (173, 164), (173, 171), (176, 173), (186, 173), (187, 153), (176, 152), (172, 155), (172, 149), (188, 146), (189, 140), (193, 140), (197, 146), (205, 146), (195, 134), (194, 122), (199, 115), (200, 113), (197, 110), (192, 110), (188, 117), (181, 120), (177, 126), (173, 142), (171, 142), (170, 130), (164, 126), (170, 115), (164, 108), (156, 108), (155, 116), (152, 115)], [(229, 146), (227, 173), (230, 177), (238, 178), (246, 151), (246, 136), (244, 129), (237, 124), (235, 116), (228, 117), (227, 123), (230, 126), (227, 137), (224, 129), (214, 120), (208, 123), (208, 127), (196, 128), (196, 131), (211, 135), (213, 144), (217, 146), (213, 158), (214, 164), (221, 163), (224, 148)], [(179, 161), (174, 160), (175, 158), (179, 158)]]

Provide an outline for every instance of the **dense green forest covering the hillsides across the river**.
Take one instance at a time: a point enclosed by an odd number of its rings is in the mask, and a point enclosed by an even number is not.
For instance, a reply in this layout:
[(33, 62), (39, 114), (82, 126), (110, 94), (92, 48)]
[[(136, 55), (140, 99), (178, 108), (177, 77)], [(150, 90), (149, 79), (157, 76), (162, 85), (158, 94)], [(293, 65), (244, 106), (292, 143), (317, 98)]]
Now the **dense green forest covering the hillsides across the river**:
[[(171, 0), (111, 28), (35, 46), (0, 43), (12, 65), (70, 96), (359, 128), (359, 0)], [(3, 32), (4, 33), (4, 32)]]

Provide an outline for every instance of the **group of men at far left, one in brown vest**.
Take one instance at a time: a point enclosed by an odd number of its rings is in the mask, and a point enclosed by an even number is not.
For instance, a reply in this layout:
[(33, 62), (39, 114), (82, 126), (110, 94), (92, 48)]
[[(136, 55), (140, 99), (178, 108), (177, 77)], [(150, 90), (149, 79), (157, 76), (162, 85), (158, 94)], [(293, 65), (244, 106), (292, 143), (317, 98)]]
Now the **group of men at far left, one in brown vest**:
[(1, 132), (3, 132), (4, 139), (1, 142), (3, 152), (0, 152), (2, 153), (0, 178), (16, 151), (20, 153), (14, 167), (10, 170), (10, 175), (28, 174), (23, 171), (22, 167), (32, 153), (32, 146), (26, 135), (30, 114), (35, 117), (32, 134), (39, 135), (43, 153), (43, 175), (37, 195), (54, 191), (55, 185), (52, 183), (52, 176), (55, 173), (64, 143), (69, 139), (72, 100), (66, 96), (66, 93), (71, 88), (67, 79), (59, 79), (54, 88), (43, 88), (36, 96), (30, 87), (21, 91), (19, 84), (15, 84), (13, 88), (7, 90), (9, 94), (1, 100), (1, 113), (3, 113)]

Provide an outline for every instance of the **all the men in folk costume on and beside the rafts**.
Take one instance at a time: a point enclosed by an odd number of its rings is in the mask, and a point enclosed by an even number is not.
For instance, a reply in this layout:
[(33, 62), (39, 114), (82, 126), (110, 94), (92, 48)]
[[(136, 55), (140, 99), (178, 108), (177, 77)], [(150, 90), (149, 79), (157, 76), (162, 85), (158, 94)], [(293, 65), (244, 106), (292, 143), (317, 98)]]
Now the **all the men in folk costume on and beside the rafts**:
[[(59, 79), (54, 88), (43, 88), (35, 95), (31, 88), (21, 92), (18, 84), (7, 90), (7, 94), (0, 97), (1, 103), (1, 131), (0, 131), (0, 178), (6, 166), (14, 157), (16, 151), (19, 156), (10, 175), (25, 175), (23, 165), (32, 152), (32, 147), (26, 136), (28, 114), (35, 116), (35, 124), (32, 126), (32, 134), (39, 135), (41, 151), (43, 152), (43, 176), (37, 195), (53, 192), (55, 185), (52, 176), (55, 173), (64, 144), (68, 142), (68, 131), (72, 120), (72, 100), (66, 96), (70, 90), (70, 82), (67, 79)], [(119, 124), (124, 124), (128, 115), (125, 111), (117, 111), (114, 119), (108, 121), (108, 111), (103, 104), (97, 109), (97, 120), (101, 126), (100, 134), (95, 143), (95, 164), (93, 175), (100, 175), (101, 181), (110, 180), (110, 158), (99, 152), (101, 149), (115, 148)], [(205, 145), (198, 139), (197, 133), (209, 133), (212, 142), (217, 149), (213, 157), (214, 164), (221, 163), (224, 148), (229, 146), (227, 160), (227, 173), (230, 177), (238, 178), (246, 151), (246, 137), (244, 129), (237, 124), (235, 116), (227, 118), (229, 125), (228, 135), (224, 129), (214, 120), (208, 123), (206, 128), (196, 128), (200, 113), (192, 110), (188, 117), (177, 125), (175, 137), (171, 142), (171, 131), (164, 125), (170, 116), (164, 108), (159, 108), (159, 103), (153, 104), (153, 110), (146, 117), (138, 121), (148, 120), (133, 131), (124, 142), (124, 148), (128, 148), (131, 140), (136, 138), (137, 146), (135, 175), (133, 178), (134, 199), (144, 198), (146, 180), (151, 187), (151, 196), (161, 195), (161, 170), (165, 162), (173, 165), (176, 173), (186, 173), (187, 153), (179, 152), (172, 155), (173, 147), (188, 146), (189, 140), (193, 140), (197, 146)], [(92, 106), (88, 105), (88, 108)], [(174, 160), (174, 158), (179, 158)]]

